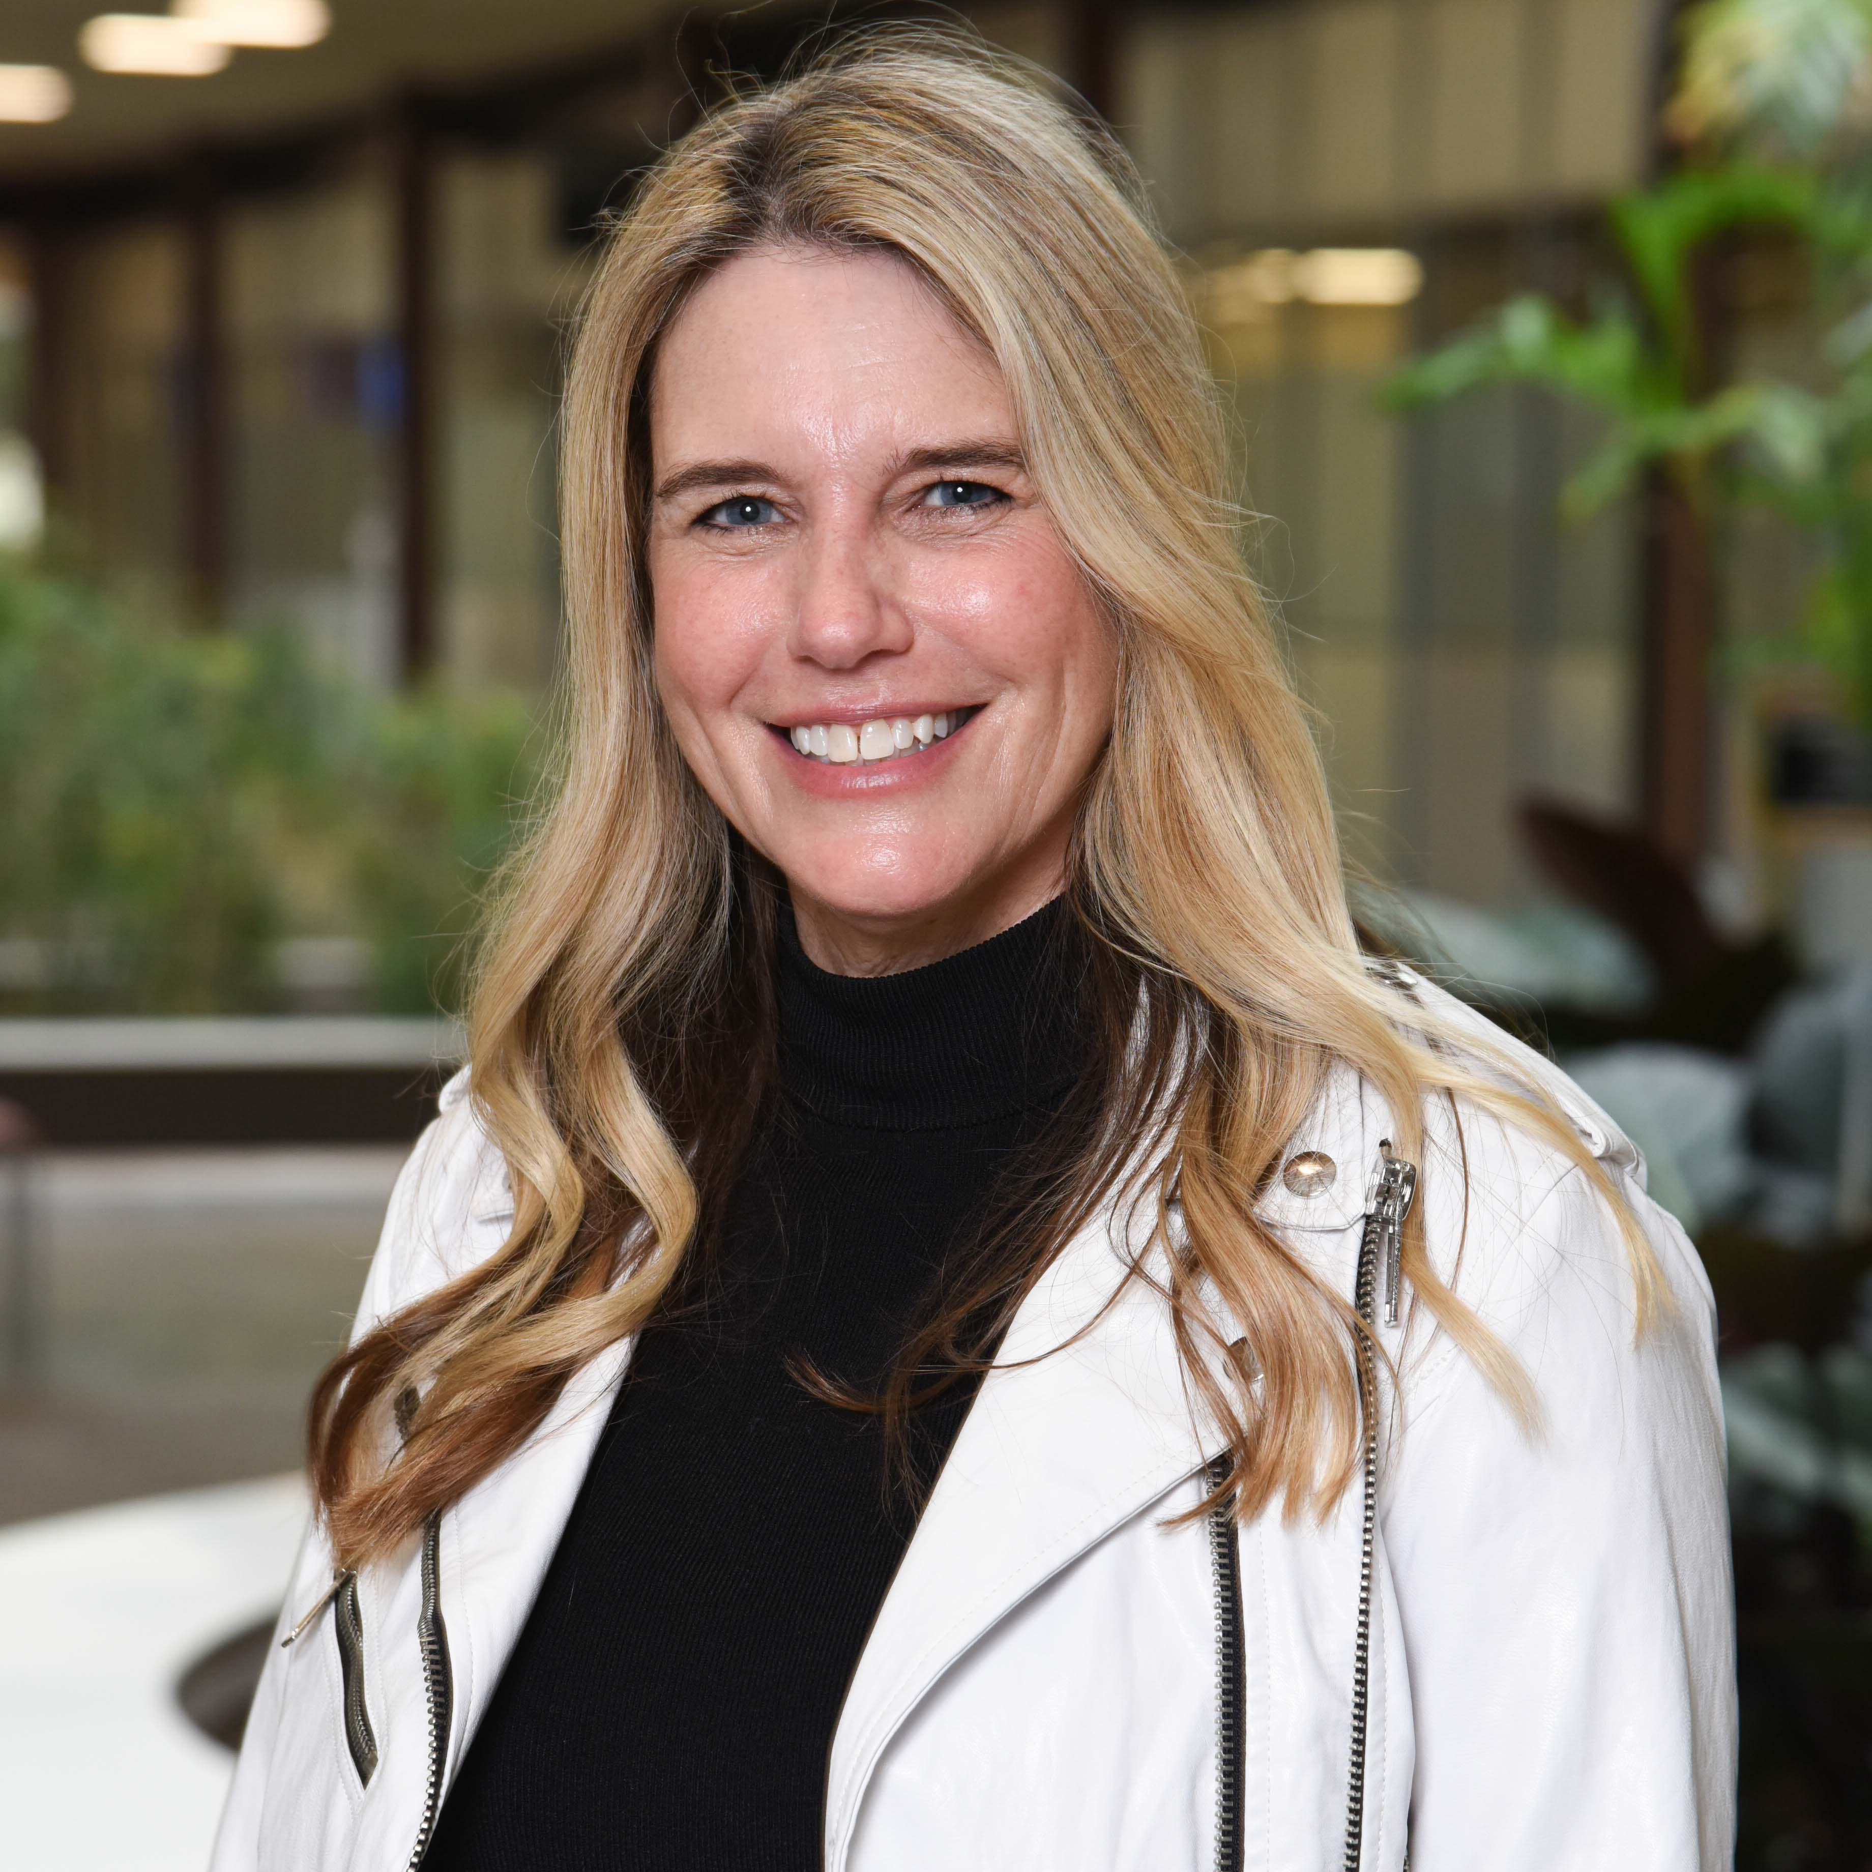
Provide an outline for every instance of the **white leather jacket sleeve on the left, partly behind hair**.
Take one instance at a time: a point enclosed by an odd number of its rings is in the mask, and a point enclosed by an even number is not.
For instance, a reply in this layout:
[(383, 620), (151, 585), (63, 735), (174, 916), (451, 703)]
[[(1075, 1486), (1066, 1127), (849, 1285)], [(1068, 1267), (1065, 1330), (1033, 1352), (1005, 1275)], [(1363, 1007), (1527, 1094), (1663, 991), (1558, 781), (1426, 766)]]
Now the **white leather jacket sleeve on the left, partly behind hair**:
[[(376, 1254), (371, 1258), (371, 1271), (365, 1277), (363, 1297), (358, 1303), (358, 1316), (352, 1324), (352, 1342), (389, 1314), (399, 1297), (408, 1292), (408, 1262), (412, 1243), (425, 1215), (434, 1206), (436, 1176), (446, 1149), (447, 1118), (438, 1118), (421, 1134), (408, 1163), (397, 1174), (397, 1183), (389, 1194), (389, 1207), (384, 1215), (384, 1228), (378, 1236)], [(228, 1788), (227, 1806), (221, 1810), (221, 1827), (215, 1835), (215, 1850), (210, 1859), (210, 1872), (255, 1872), (262, 1865), (260, 1820), (266, 1808), (268, 1780), (279, 1769), (275, 1762), (281, 1728), (281, 1704), (286, 1689), (286, 1664), (290, 1653), (281, 1649), (279, 1640), (292, 1631), (318, 1595), (331, 1584), (331, 1548), (326, 1544), (324, 1529), (311, 1522), (300, 1543), (300, 1558), (294, 1561), (292, 1578), (286, 1586), (286, 1602), (279, 1614), (273, 1644), (266, 1655), (266, 1668), (255, 1690), (253, 1707), (247, 1713), (247, 1730), (241, 1737), (240, 1758), (234, 1763), (234, 1782)], [(270, 1842), (268, 1865), (292, 1865), (290, 1842)]]

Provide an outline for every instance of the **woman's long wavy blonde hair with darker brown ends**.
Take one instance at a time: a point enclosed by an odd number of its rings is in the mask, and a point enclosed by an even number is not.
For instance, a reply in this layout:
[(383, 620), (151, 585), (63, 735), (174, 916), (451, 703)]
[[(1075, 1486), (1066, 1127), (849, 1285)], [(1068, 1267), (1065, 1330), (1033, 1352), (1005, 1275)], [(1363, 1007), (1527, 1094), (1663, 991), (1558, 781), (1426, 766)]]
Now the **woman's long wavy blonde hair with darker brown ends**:
[[(1428, 1013), (1400, 1028), (1365, 968), (1310, 726), (1241, 563), (1217, 391), (1131, 161), (1020, 62), (958, 34), (867, 34), (730, 97), (670, 148), (592, 285), (563, 414), (565, 769), (507, 878), (470, 1013), (472, 1097), (507, 1163), (513, 1228), (320, 1383), (313, 1475), (346, 1563), (457, 1499), (578, 1367), (644, 1324), (749, 1134), (773, 1048), (775, 880), (657, 702), (646, 391), (696, 283), (771, 243), (895, 253), (992, 352), (1119, 651), (1067, 885), (1103, 1011), (1095, 1097), (1013, 1258), (951, 1297), (904, 1374), (979, 1363), (1114, 1194), (1112, 1140), (1144, 1123), (1146, 1192), (1174, 1194), (1183, 1221), (1163, 1284), (1234, 1447), (1237, 1507), (1324, 1511), (1357, 1462), (1348, 1352), (1363, 1327), (1254, 1206), (1329, 1065), (1365, 1075), (1411, 1159), (1426, 1097), (1462, 1095), (1548, 1138), (1614, 1202), (1535, 1088), (1466, 1063), (1473, 1043), (1440, 1045)], [(1657, 1271), (1621, 1224), (1644, 1318)], [(1404, 1269), (1526, 1411), (1526, 1380), (1438, 1279), (1421, 1228)], [(1213, 1357), (1219, 1309), (1250, 1359)], [(399, 1400), (414, 1411), (386, 1458)]]

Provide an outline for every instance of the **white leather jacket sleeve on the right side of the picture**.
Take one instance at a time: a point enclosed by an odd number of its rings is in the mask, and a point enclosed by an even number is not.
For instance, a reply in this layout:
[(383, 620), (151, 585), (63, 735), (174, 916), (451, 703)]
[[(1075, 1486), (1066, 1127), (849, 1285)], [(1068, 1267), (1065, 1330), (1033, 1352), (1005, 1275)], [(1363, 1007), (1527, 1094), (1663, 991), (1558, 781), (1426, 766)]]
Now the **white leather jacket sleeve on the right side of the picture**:
[(1623, 1185), (1674, 1301), (1642, 1340), (1625, 1243), (1578, 1170), (1499, 1247), (1464, 1252), (1458, 1292), (1539, 1393), (1533, 1436), (1447, 1342), (1406, 1367), (1382, 1528), (1415, 1726), (1413, 1872), (1732, 1863), (1715, 1309), (1683, 1230)]

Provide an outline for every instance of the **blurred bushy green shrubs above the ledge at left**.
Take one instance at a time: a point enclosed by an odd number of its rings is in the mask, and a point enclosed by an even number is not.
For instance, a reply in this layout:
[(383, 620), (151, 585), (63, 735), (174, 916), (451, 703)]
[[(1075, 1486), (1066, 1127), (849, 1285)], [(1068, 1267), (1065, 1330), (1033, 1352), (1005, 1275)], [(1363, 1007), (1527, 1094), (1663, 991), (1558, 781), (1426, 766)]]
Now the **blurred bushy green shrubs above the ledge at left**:
[(453, 1005), (528, 734), (513, 696), (367, 696), (301, 633), (0, 563), (0, 1009), (279, 1009), (307, 934), (369, 947), (371, 1005)]

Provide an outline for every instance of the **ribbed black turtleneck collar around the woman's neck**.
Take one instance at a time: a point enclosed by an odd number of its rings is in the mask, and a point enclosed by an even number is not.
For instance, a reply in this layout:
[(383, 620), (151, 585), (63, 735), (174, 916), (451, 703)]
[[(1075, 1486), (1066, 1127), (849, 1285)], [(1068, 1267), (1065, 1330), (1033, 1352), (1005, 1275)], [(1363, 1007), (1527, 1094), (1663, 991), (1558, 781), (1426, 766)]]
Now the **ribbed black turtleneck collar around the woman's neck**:
[(781, 1084), (820, 1118), (940, 1131), (1031, 1110), (1091, 1045), (1076, 923), (1054, 899), (1024, 923), (902, 975), (831, 975), (781, 915)]

